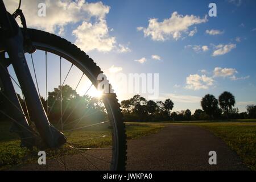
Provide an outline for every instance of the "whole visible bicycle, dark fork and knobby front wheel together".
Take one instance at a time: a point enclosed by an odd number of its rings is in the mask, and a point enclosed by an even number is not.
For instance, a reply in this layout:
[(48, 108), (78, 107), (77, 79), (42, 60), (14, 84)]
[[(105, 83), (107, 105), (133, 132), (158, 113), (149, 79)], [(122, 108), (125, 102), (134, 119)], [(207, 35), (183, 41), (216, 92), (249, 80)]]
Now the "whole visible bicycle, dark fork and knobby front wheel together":
[[(97, 88), (100, 82), (106, 79), (97, 80), (97, 76), (102, 74), (100, 67), (85, 52), (67, 40), (48, 32), (27, 28), (20, 5), (21, 0), (18, 9), (10, 14), (3, 0), (0, 0), (0, 95), (8, 107), (7, 111), (0, 110), (0, 113), (13, 122), (11, 132), (18, 134), (22, 147), (29, 150), (35, 147), (36, 150), (46, 150), (51, 160), (61, 156), (62, 161), (56, 159), (57, 163), (63, 166), (61, 169), (71, 169), (67, 166), (67, 160), (77, 163), (72, 160), (77, 158), (81, 162), (82, 158), (85, 161), (80, 165), (82, 169), (94, 170), (104, 167), (108, 170), (125, 170), (126, 132), (116, 95), (104, 93), (102, 98), (97, 100), (87, 94), (93, 86)], [(23, 27), (19, 27), (15, 20), (18, 16)], [(39, 51), (42, 51), (41, 55), (35, 55)], [(46, 65), (45, 100), (40, 94), (40, 82), (37, 79), (33, 55), (44, 59)], [(35, 78), (32, 78), (27, 63), (28, 56), (32, 61)], [(53, 56), (55, 57), (52, 58)], [(49, 62), (49, 59), (52, 61)], [(59, 59), (60, 63), (60, 85), (56, 92), (50, 93), (47, 85), (47, 64), (53, 64), (56, 59)], [(70, 68), (63, 81), (61, 65), (64, 61)], [(9, 73), (10, 65), (18, 81)], [(70, 89), (70, 86), (64, 84), (74, 67), (81, 72), (81, 77), (74, 89)], [(54, 76), (56, 77), (56, 74)], [(85, 76), (90, 81), (90, 86), (85, 94), (80, 96), (76, 91)], [(15, 88), (20, 89), (23, 99), (18, 97)], [(72, 90), (68, 98), (63, 96), (64, 92), (68, 92), (64, 89)], [(71, 138), (71, 135), (75, 137)], [(84, 136), (83, 140), (81, 136)], [(108, 151), (108, 155), (105, 156), (101, 151)], [(104, 164), (99, 164), (100, 162)]]

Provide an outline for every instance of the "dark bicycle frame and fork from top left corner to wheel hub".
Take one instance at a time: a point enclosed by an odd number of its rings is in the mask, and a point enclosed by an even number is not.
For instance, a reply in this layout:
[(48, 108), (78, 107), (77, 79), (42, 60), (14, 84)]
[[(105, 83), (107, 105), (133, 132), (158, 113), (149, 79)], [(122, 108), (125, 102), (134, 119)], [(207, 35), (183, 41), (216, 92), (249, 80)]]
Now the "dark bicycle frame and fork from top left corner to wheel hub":
[[(30, 115), (31, 121), (35, 123), (40, 137), (42, 137), (48, 147), (53, 148), (64, 144), (65, 137), (60, 131), (56, 130), (55, 127), (49, 123), (34, 81), (32, 80), (30, 69), (28, 68), (26, 57), (24, 55), (22, 32), (13, 16), (6, 11), (2, 0), (0, 0), (0, 23), (2, 29), (0, 32), (2, 46), (5, 48), (10, 57), (11, 64), (13, 65), (16, 77), (18, 78), (20, 84), (20, 88), (22, 89), (26, 99), (28, 114)], [(2, 59), (5, 59), (5, 57), (2, 56)], [(31, 128), (28, 125), (26, 117), (24, 117), (24, 113), (20, 112), (22, 111), (22, 108), (19, 104), (14, 86), (7, 71), (7, 65), (5, 63), (1, 64), (0, 78), (3, 89), (5, 90), (5, 93), (8, 93), (7, 99), (17, 106), (16, 108), (13, 108), (12, 115), (14, 115), (14, 117), (18, 119), (17, 121), (20, 123), (20, 125), (23, 126), (18, 127), (23, 134), (20, 137), (31, 138), (33, 136), (27, 131), (31, 131)], [(17, 123), (14, 122), (14, 125), (17, 125)]]

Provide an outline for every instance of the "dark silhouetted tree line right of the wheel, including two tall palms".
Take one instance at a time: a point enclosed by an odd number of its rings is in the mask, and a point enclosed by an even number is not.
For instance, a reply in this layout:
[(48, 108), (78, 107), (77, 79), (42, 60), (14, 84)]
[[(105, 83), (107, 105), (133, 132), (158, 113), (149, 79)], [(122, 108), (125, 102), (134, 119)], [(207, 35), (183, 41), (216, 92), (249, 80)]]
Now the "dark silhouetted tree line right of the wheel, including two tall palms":
[(256, 106), (247, 105), (247, 112), (239, 113), (235, 97), (230, 92), (223, 92), (218, 99), (212, 94), (205, 95), (201, 100), (201, 109), (172, 111), (174, 102), (147, 101), (144, 97), (135, 95), (129, 100), (121, 101), (121, 109), (125, 121), (192, 121), (213, 119), (246, 119), (256, 118)]

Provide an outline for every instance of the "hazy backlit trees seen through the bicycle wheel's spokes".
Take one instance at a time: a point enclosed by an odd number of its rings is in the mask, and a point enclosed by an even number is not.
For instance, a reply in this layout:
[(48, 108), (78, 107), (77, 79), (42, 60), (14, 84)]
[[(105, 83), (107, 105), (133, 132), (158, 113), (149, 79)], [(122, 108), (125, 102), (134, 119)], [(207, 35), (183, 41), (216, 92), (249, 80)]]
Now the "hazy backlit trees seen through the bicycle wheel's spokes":
[[(46, 105), (43, 98), (41, 101), (43, 105)], [(105, 107), (101, 100), (88, 95), (81, 97), (69, 85), (58, 86), (58, 88), (54, 88), (53, 92), (48, 93), (48, 109), (48, 118), (53, 124), (59, 124), (61, 118), (64, 123), (72, 123), (77, 119), (82, 119), (81, 122), (96, 123), (106, 117)]]

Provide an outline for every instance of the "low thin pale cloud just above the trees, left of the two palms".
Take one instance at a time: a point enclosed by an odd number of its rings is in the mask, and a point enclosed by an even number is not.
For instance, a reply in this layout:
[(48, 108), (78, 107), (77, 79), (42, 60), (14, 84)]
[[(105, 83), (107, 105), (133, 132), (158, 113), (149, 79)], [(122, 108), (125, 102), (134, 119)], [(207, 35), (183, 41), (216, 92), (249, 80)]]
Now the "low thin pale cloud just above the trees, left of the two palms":
[(166, 100), (167, 98), (170, 98), (174, 102), (182, 102), (182, 103), (200, 103), (201, 97), (197, 96), (189, 96), (189, 95), (180, 95), (180, 94), (161, 94), (159, 99), (160, 100)]

